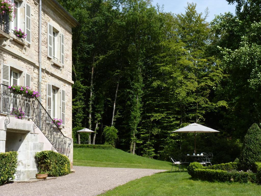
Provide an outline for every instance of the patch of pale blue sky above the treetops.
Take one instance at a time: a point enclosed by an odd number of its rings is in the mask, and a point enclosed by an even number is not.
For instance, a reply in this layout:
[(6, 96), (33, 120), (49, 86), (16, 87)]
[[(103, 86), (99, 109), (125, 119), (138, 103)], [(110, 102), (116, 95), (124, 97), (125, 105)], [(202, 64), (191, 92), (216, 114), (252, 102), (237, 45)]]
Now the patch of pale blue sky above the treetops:
[(205, 9), (209, 8), (209, 16), (207, 21), (210, 22), (215, 18), (215, 15), (224, 14), (225, 12), (232, 12), (235, 14), (235, 4), (229, 5), (226, 0), (153, 0), (152, 4), (156, 6), (158, 3), (160, 6), (164, 4), (165, 12), (172, 12), (174, 14), (185, 13), (185, 7), (187, 2), (196, 3), (196, 10), (198, 13), (202, 12), (205, 16)]

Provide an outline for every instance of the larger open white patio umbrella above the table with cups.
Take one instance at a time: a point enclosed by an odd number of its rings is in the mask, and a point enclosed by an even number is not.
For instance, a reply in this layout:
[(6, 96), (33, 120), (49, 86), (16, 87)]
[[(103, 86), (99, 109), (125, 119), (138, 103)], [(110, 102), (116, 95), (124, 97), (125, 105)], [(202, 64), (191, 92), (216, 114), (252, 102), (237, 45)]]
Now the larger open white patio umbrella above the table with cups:
[(197, 123), (192, 123), (187, 126), (184, 126), (180, 129), (177, 129), (176, 131), (172, 131), (172, 133), (179, 132), (179, 133), (194, 133), (194, 143), (195, 143), (195, 153), (196, 152), (196, 133), (213, 133), (213, 132), (219, 132), (215, 129), (211, 129), (209, 127), (197, 124)]

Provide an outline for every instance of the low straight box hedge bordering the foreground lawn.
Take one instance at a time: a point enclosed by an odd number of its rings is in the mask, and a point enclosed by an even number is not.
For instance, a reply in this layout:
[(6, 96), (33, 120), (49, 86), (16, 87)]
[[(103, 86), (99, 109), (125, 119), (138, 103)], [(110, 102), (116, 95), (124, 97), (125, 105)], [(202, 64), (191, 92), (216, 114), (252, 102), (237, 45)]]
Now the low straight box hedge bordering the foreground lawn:
[(244, 171), (224, 171), (214, 169), (195, 169), (194, 177), (200, 180), (219, 182), (248, 182), (248, 173)]

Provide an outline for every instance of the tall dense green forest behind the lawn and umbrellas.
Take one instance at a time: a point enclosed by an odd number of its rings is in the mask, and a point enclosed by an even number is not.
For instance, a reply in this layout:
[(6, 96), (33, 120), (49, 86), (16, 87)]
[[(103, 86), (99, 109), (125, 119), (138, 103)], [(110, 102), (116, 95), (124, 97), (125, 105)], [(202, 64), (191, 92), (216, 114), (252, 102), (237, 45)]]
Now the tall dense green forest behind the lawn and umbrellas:
[[(79, 21), (73, 29), (73, 138), (86, 127), (91, 143), (118, 130), (116, 147), (165, 160), (193, 152), (190, 123), (220, 133), (197, 134), (198, 152), (216, 162), (239, 156), (261, 121), (261, 1), (227, 0), (235, 15), (207, 22), (188, 3), (166, 13), (150, 0), (59, 0)], [(81, 136), (81, 142), (88, 138)]]

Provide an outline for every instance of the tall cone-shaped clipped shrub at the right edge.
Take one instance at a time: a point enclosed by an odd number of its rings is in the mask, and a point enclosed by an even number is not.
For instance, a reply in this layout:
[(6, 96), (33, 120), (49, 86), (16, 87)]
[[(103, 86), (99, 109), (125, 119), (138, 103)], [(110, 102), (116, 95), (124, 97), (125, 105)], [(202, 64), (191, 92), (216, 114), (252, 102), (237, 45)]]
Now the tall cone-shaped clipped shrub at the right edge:
[(253, 170), (255, 162), (261, 162), (261, 130), (254, 123), (247, 131), (239, 159), (240, 168)]

